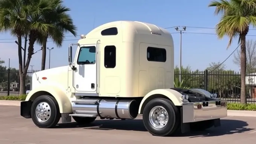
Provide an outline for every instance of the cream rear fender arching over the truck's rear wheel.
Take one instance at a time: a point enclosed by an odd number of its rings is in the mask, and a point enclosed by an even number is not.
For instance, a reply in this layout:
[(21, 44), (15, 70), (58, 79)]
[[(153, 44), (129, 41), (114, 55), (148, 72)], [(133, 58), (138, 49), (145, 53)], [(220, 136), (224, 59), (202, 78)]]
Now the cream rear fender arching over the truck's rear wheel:
[(148, 103), (151, 99), (159, 98), (159, 96), (162, 98), (166, 97), (170, 99), (176, 106), (181, 106), (183, 103), (181, 99), (181, 96), (182, 96), (181, 93), (177, 92), (176, 90), (156, 89), (156, 90), (152, 90), (151, 92), (146, 94), (146, 96), (144, 96), (144, 98), (140, 102), (139, 114), (141, 114), (141, 111), (145, 107), (146, 103)]

